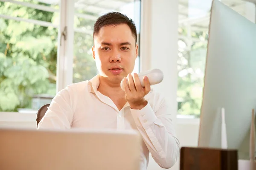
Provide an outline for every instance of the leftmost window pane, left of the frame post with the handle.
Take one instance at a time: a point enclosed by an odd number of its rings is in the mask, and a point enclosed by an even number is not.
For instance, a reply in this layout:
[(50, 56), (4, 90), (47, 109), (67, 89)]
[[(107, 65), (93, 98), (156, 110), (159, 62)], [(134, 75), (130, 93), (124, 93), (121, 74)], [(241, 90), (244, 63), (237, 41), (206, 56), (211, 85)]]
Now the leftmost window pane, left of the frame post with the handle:
[[(0, 11), (17, 17), (0, 17), (0, 111), (37, 112), (55, 95), (58, 13), (9, 2), (0, 2)], [(38, 20), (52, 26), (41, 26)]]

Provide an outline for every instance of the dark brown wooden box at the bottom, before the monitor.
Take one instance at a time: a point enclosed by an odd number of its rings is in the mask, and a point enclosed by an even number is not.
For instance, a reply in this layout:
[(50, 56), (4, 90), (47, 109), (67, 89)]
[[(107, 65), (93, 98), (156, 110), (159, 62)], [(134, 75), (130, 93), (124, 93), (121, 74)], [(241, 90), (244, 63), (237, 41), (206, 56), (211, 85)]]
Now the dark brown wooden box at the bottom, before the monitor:
[(238, 170), (237, 150), (182, 147), (180, 170)]

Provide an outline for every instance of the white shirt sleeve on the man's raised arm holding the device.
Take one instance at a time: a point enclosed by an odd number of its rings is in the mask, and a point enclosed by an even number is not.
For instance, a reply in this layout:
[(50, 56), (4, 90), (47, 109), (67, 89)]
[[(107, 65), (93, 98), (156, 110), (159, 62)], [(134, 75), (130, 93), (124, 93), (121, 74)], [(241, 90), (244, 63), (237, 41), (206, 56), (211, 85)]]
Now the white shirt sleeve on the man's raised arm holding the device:
[(162, 168), (172, 167), (180, 154), (180, 142), (166, 101), (155, 113), (148, 102), (141, 110), (131, 109), (131, 114), (153, 159)]

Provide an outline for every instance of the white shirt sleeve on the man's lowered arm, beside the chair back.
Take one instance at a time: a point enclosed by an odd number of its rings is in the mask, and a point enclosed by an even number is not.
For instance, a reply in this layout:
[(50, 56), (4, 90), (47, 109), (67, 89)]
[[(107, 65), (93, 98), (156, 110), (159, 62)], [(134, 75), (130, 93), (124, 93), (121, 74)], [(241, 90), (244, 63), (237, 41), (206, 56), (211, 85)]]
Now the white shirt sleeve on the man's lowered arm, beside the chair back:
[(72, 120), (69, 90), (65, 88), (52, 99), (44, 117), (38, 123), (38, 129), (70, 129)]

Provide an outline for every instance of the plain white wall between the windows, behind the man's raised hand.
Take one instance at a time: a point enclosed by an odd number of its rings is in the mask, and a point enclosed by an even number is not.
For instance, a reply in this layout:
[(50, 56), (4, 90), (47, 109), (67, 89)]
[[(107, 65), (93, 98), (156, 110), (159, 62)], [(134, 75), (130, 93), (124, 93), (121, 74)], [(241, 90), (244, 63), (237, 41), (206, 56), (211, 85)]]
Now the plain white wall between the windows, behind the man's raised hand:
[[(142, 0), (141, 70), (160, 68), (163, 82), (153, 86), (166, 95), (181, 146), (197, 146), (199, 120), (176, 119), (178, 0)], [(171, 170), (179, 170), (179, 161)], [(148, 170), (162, 170), (151, 158)]]

